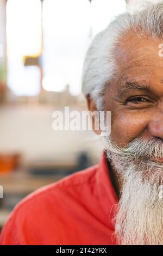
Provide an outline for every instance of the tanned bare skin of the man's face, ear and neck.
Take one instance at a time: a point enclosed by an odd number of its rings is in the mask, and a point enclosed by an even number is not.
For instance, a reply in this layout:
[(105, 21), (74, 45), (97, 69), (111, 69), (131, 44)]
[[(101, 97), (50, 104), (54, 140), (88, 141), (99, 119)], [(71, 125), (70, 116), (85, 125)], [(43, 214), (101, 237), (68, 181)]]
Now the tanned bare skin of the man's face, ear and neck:
[[(162, 43), (163, 38), (142, 38), (130, 31), (117, 45), (117, 74), (106, 85), (104, 110), (111, 111), (111, 140), (122, 147), (135, 138), (163, 139), (163, 57), (159, 56)], [(87, 106), (90, 111), (97, 111), (89, 96)], [(119, 194), (122, 184), (112, 165), (111, 173)]]

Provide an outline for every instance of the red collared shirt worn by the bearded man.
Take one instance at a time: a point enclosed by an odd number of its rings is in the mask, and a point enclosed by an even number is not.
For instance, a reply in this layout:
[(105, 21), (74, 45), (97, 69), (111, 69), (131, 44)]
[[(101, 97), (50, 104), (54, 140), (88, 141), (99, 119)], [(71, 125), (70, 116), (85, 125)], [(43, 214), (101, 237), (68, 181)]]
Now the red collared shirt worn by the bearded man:
[(29, 194), (4, 225), (0, 245), (114, 245), (118, 198), (105, 154), (96, 166)]

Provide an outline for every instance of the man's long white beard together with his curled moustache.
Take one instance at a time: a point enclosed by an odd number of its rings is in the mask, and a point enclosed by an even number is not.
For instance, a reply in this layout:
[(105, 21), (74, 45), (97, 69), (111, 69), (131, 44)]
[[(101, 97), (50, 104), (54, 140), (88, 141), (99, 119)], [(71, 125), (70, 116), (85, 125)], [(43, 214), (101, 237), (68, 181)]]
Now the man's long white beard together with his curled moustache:
[[(121, 148), (103, 137), (109, 160), (123, 176), (115, 236), (120, 245), (163, 245), (163, 157), (161, 139), (135, 139)], [(163, 190), (163, 187), (162, 187)], [(163, 193), (162, 193), (163, 194)]]

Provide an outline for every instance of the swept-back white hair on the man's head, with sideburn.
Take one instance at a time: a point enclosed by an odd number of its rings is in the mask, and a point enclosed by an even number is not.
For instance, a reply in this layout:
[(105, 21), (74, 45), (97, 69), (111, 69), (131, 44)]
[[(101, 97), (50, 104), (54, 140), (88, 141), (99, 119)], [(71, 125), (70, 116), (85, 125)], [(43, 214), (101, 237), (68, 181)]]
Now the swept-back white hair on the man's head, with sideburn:
[(161, 38), (163, 35), (163, 2), (143, 2), (141, 10), (126, 11), (118, 15), (109, 26), (93, 39), (85, 56), (82, 76), (82, 92), (95, 100), (98, 111), (104, 107), (103, 95), (106, 83), (116, 76), (116, 45), (122, 35), (133, 29), (141, 36)]

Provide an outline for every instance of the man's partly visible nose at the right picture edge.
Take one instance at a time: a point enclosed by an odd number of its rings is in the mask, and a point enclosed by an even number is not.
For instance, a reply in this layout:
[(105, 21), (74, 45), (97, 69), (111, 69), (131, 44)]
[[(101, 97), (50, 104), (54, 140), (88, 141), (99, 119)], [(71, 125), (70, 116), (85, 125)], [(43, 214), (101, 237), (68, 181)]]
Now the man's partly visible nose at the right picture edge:
[(163, 139), (163, 113), (148, 123), (148, 131), (152, 136)]

